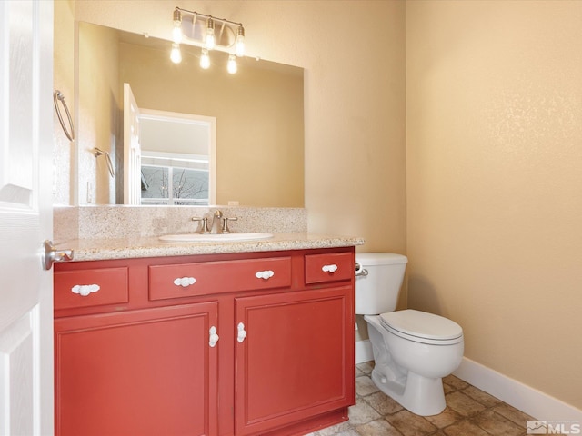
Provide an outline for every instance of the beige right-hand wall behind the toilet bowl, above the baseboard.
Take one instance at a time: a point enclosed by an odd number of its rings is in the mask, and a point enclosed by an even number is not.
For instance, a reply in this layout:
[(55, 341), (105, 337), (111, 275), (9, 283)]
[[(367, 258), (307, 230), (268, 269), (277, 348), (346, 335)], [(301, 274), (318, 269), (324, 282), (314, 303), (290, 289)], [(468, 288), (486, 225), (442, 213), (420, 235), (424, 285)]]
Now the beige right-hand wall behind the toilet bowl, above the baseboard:
[(582, 408), (582, 2), (406, 3), (409, 305)]

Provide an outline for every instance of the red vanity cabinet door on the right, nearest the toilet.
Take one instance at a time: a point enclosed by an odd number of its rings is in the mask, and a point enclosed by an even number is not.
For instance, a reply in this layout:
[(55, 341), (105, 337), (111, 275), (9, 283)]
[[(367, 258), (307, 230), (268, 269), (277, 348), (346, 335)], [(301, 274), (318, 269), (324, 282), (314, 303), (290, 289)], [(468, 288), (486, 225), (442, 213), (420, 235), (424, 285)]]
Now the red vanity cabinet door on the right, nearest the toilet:
[(236, 435), (354, 402), (351, 285), (236, 298)]

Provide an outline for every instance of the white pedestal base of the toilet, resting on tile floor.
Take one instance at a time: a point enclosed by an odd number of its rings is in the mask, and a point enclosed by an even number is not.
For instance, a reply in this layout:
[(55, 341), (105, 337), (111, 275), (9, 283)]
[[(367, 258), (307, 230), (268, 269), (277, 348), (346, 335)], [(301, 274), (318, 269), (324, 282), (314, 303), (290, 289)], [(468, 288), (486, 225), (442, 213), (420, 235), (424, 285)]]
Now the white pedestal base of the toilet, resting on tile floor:
[(420, 416), (437, 415), (447, 407), (442, 379), (428, 379), (408, 372), (403, 386), (390, 381), (375, 368), (372, 381), (376, 387), (408, 411)]

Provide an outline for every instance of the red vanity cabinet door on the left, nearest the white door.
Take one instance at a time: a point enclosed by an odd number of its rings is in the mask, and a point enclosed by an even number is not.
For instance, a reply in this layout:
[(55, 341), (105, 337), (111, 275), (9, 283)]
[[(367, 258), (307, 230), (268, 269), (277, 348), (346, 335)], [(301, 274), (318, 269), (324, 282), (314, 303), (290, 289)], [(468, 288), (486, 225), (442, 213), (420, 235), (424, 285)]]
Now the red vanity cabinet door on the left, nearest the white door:
[(217, 310), (200, 302), (55, 319), (56, 434), (216, 434)]

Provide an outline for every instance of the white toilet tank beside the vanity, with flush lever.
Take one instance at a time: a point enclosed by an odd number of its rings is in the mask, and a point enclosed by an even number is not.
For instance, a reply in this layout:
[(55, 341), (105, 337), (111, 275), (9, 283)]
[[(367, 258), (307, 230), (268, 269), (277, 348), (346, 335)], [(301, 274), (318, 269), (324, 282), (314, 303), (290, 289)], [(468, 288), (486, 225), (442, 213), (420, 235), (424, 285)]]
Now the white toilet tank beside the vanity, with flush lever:
[(396, 310), (407, 262), (402, 254), (356, 253), (357, 315)]

